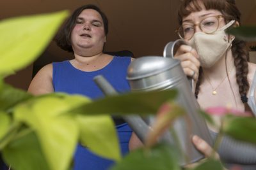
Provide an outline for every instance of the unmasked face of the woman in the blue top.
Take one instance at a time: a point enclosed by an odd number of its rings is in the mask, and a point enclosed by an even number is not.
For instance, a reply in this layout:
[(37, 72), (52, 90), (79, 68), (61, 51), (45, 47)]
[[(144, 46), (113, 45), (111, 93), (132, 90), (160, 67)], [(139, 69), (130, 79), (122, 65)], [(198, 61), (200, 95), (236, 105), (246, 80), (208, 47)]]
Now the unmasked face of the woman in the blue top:
[(103, 50), (106, 36), (100, 14), (92, 9), (83, 10), (77, 17), (76, 25), (71, 32), (71, 44), (74, 52), (86, 48)]

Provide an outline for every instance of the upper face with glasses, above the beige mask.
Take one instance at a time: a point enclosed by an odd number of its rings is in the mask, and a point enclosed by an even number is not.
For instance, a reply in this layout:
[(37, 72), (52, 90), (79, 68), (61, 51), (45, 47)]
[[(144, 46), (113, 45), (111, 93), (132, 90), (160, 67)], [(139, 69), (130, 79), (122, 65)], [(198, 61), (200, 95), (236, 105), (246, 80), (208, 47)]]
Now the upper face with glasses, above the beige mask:
[[(182, 18), (182, 27), (184, 34), (192, 34), (193, 36), (193, 34), (195, 34), (196, 32), (202, 32), (202, 29), (204, 31), (207, 31), (208, 28), (211, 29), (211, 27), (214, 27), (214, 21), (216, 22), (215, 24), (218, 24), (218, 29), (225, 25), (225, 20), (223, 17), (216, 19), (217, 16), (222, 15), (220, 11), (204, 10), (205, 8), (202, 9), (203, 10), (192, 12), (187, 17)], [(212, 18), (214, 18), (214, 20)], [(186, 38), (186, 36), (185, 39), (189, 40), (188, 38)]]

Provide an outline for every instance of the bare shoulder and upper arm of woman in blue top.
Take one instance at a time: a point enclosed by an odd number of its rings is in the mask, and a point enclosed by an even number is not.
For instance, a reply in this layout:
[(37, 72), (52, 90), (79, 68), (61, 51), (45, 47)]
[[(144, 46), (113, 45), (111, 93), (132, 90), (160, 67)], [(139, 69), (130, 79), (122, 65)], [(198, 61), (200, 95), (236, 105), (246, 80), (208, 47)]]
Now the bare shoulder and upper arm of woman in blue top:
[(29, 85), (28, 92), (34, 95), (54, 92), (52, 86), (52, 64), (47, 64), (38, 71)]

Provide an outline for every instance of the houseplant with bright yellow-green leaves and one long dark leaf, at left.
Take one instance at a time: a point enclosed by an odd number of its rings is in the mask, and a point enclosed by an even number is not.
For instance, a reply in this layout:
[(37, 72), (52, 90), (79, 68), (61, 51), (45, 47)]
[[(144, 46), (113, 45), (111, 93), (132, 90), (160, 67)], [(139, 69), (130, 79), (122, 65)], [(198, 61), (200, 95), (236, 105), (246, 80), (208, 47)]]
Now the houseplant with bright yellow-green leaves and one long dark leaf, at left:
[[(120, 160), (115, 126), (109, 115), (102, 114), (115, 112), (115, 106), (122, 105), (119, 100), (111, 107), (113, 97), (106, 97), (101, 103), (67, 94), (35, 97), (4, 83), (4, 77), (28, 66), (42, 53), (67, 15), (67, 11), (60, 11), (1, 21), (0, 150), (4, 161), (13, 169), (68, 169), (78, 140), (103, 157)], [(18, 30), (15, 25), (19, 25)], [(162, 93), (157, 103), (149, 100), (157, 97), (156, 92), (147, 93), (148, 100), (141, 94), (128, 95), (121, 101), (131, 101), (140, 108), (124, 113), (154, 113), (174, 93)], [(80, 105), (80, 110), (86, 106), (88, 111), (74, 113), (72, 109)], [(96, 117), (89, 108), (97, 108)]]

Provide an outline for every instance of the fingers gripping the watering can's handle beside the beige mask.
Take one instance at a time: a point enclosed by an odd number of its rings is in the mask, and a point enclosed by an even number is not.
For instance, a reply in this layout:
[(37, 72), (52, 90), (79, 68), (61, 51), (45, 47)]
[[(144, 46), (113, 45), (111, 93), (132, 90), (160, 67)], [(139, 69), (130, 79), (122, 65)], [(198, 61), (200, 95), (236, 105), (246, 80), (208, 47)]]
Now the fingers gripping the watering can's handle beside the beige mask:
[(196, 50), (191, 46), (181, 45), (175, 53), (175, 58), (180, 60), (184, 73), (196, 81), (200, 67)]

